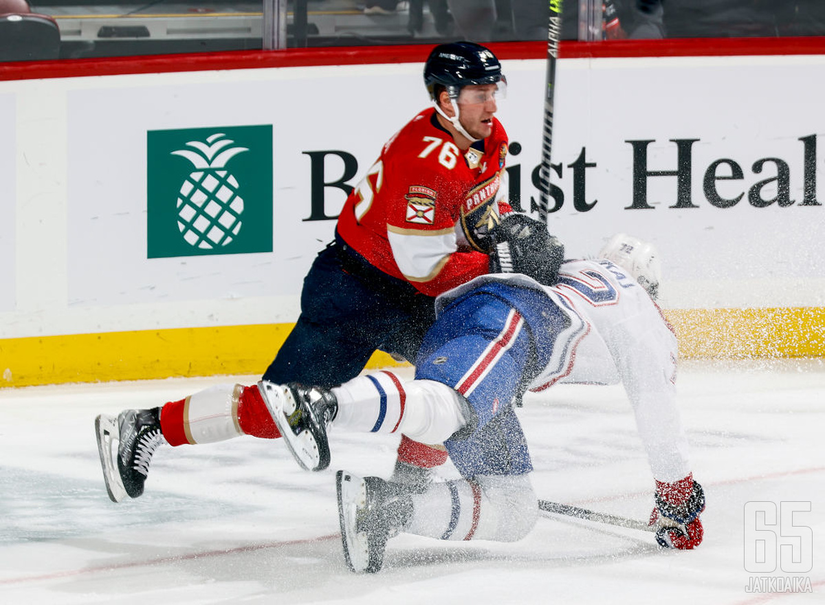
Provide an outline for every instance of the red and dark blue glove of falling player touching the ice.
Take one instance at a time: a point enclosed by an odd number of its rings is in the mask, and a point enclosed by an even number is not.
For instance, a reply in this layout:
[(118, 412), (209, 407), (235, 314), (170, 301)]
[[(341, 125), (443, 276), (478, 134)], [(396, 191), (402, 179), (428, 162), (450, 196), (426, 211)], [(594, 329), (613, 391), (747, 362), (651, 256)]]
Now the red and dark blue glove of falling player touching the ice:
[(699, 546), (705, 531), (699, 515), (705, 510), (705, 490), (693, 474), (673, 483), (656, 482), (656, 508), (649, 525), (656, 526), (656, 541), (683, 551)]

